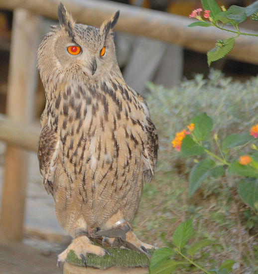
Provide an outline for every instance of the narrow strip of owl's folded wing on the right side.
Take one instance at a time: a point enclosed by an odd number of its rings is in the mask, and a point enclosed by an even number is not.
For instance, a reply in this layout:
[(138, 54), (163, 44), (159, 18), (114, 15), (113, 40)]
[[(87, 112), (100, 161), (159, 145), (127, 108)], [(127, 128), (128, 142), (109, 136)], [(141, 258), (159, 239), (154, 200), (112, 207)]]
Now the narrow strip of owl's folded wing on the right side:
[(158, 135), (157, 130), (150, 120), (149, 109), (145, 100), (138, 94), (143, 111), (146, 116), (146, 122), (142, 124), (142, 128), (146, 134), (147, 141), (143, 143), (143, 161), (144, 161), (144, 177), (148, 182), (151, 181), (154, 175), (154, 169), (157, 162), (158, 153)]

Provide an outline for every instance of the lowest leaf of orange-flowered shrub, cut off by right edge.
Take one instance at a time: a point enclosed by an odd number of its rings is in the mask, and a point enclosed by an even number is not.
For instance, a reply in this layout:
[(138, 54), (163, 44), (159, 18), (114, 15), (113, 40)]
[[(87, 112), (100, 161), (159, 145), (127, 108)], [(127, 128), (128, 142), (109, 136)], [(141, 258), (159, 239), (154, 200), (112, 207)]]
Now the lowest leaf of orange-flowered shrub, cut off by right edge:
[(258, 210), (258, 180), (242, 179), (238, 183), (238, 193), (241, 199), (250, 207)]

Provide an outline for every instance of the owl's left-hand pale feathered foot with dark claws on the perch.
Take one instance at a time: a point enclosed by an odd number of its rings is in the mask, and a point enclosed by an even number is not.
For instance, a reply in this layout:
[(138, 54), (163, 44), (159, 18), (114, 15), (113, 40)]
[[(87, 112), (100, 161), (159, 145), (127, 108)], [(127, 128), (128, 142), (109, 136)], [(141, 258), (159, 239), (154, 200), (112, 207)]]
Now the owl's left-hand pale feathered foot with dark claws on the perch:
[(109, 255), (109, 253), (105, 249), (93, 245), (87, 236), (79, 235), (79, 237), (77, 236), (72, 240), (72, 243), (67, 247), (66, 250), (58, 255), (57, 266), (59, 268), (60, 265), (65, 262), (67, 254), (70, 250), (74, 251), (78, 259), (83, 260), (85, 266), (87, 266), (85, 259), (87, 253), (95, 254), (101, 257), (106, 254)]

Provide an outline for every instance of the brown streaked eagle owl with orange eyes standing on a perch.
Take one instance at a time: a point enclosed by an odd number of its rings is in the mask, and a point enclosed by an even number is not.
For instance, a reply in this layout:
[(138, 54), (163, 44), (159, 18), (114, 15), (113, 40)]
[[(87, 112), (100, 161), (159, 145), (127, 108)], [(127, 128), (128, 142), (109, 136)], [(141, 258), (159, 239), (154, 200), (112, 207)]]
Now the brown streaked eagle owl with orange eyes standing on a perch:
[[(62, 3), (59, 25), (43, 37), (37, 67), (45, 89), (38, 146), (40, 173), (55, 201), (60, 226), (78, 257), (106, 251), (92, 244), (93, 231), (120, 228), (125, 241), (145, 250), (129, 221), (142, 181), (150, 181), (158, 138), (143, 98), (119, 69), (112, 29), (119, 11), (100, 28), (76, 24)], [(110, 243), (114, 242), (109, 237)]]

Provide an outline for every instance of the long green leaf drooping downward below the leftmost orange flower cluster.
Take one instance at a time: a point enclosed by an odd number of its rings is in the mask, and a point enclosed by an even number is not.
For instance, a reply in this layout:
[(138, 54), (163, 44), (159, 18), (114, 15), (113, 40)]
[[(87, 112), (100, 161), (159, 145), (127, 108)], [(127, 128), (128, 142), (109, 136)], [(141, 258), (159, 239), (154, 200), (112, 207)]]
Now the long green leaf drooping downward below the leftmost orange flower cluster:
[(192, 168), (189, 177), (189, 198), (200, 187), (201, 182), (211, 175), (211, 169), (213, 169), (215, 165), (215, 162), (208, 158), (200, 161)]

